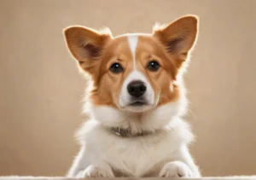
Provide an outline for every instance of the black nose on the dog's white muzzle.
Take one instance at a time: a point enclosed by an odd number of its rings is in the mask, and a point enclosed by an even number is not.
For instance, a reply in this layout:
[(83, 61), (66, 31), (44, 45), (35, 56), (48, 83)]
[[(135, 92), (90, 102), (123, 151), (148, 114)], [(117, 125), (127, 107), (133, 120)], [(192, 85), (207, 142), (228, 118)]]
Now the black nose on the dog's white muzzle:
[(132, 81), (128, 84), (127, 90), (131, 96), (139, 97), (146, 92), (147, 86), (142, 81)]

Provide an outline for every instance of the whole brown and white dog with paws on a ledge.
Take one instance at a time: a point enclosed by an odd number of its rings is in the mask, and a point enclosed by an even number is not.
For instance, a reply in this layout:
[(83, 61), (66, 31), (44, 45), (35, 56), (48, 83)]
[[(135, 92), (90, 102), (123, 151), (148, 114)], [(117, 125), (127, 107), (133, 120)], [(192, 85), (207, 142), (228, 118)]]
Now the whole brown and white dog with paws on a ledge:
[(188, 149), (193, 134), (181, 119), (187, 108), (182, 74), (197, 32), (194, 15), (154, 26), (152, 34), (64, 31), (91, 80), (90, 120), (68, 177), (201, 176)]

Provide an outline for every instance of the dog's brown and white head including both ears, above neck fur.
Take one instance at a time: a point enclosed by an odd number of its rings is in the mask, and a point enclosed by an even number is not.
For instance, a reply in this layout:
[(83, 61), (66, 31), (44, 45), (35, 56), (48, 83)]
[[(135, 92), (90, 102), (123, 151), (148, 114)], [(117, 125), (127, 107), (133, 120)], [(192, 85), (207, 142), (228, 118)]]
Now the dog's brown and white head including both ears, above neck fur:
[(177, 75), (196, 34), (195, 16), (116, 38), (81, 26), (65, 30), (68, 49), (92, 78), (92, 103), (137, 113), (178, 101)]

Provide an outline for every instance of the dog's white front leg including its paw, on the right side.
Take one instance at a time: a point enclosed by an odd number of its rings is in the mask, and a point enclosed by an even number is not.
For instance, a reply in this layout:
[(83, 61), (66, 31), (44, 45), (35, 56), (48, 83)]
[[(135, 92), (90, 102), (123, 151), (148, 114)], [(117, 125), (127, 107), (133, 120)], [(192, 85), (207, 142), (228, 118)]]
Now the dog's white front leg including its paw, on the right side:
[(160, 171), (160, 177), (201, 177), (198, 167), (189, 154), (187, 146), (183, 146)]

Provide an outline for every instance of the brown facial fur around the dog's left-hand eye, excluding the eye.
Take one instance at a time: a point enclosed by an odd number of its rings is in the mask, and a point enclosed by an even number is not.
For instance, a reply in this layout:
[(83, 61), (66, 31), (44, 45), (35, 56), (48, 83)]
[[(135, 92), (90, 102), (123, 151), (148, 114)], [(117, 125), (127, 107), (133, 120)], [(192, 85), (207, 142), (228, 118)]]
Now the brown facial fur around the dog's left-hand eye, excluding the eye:
[[(125, 70), (124, 73), (115, 74), (109, 71), (114, 62), (119, 62)], [(108, 42), (99, 69), (99, 79), (94, 79), (96, 83), (91, 91), (91, 98), (97, 105), (118, 107), (121, 86), (132, 71), (132, 54), (126, 37), (114, 38)]]

